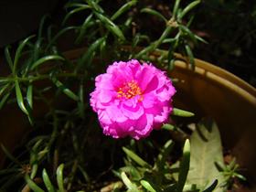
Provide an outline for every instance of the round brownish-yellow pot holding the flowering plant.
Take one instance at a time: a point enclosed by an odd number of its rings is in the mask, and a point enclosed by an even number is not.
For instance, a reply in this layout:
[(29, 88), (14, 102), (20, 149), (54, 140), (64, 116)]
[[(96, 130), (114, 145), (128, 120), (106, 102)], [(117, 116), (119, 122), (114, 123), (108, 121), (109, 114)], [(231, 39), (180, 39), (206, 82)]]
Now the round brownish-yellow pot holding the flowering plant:
[[(70, 50), (65, 55), (76, 59), (83, 51), (82, 48)], [(195, 71), (185, 61), (176, 61), (170, 75), (181, 80), (176, 83), (175, 106), (195, 112), (197, 118), (211, 116), (217, 121), (224, 146), (248, 170), (249, 180), (256, 188), (256, 89), (228, 71), (199, 59)], [(8, 110), (12, 114), (9, 119), (0, 116), (0, 142), (12, 149), (26, 130), (26, 123), (20, 112)]]

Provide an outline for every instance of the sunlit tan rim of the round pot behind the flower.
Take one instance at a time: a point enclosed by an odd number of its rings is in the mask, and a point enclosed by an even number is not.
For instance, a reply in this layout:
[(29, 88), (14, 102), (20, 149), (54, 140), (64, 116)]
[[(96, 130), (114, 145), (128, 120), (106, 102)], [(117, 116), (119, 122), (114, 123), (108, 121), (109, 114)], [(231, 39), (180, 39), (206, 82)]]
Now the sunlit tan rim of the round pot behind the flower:
[[(64, 52), (64, 56), (69, 59), (77, 59), (82, 52), (87, 48), (75, 48), (67, 50)], [(131, 47), (123, 47), (123, 49), (129, 50)], [(136, 48), (141, 49), (141, 48)], [(151, 56), (159, 57), (162, 54), (167, 54), (166, 50), (155, 50)], [(187, 57), (182, 56), (179, 53), (176, 53), (176, 62), (175, 66), (178, 69), (189, 69), (191, 72), (195, 72), (197, 75), (205, 76), (209, 80), (214, 80), (218, 83), (224, 85), (227, 89), (236, 92), (242, 97), (246, 98), (251, 102), (252, 105), (256, 107), (256, 88), (251, 86), (245, 80), (241, 80), (238, 76), (229, 72), (226, 69), (222, 69), (214, 64), (209, 63), (208, 61), (202, 59), (195, 59), (195, 69), (191, 69), (191, 65)]]

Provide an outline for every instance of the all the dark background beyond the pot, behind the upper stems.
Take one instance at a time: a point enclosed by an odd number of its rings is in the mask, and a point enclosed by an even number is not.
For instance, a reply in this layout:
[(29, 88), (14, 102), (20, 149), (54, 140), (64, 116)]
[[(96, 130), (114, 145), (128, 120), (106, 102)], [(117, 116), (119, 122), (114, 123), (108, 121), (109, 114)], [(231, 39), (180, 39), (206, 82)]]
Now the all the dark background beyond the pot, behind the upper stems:
[[(0, 3), (0, 48), (1, 60), (3, 48), (7, 44), (16, 44), (19, 40), (35, 33), (41, 16), (50, 14), (51, 19), (59, 24), (65, 15), (63, 6), (66, 1), (1, 1)], [(167, 18), (171, 16), (170, 7), (175, 1), (170, 0), (143, 0), (140, 5), (150, 5)], [(187, 1), (181, 1), (188, 4)], [(116, 0), (102, 1), (105, 10), (112, 12), (123, 4)], [(137, 10), (134, 9), (134, 12)], [(77, 22), (79, 15), (72, 19)], [(159, 37), (165, 24), (157, 19), (147, 22), (147, 16), (137, 18), (136, 30), (141, 30), (151, 37)], [(200, 37), (204, 37), (208, 44), (200, 43), (194, 48), (195, 57), (205, 59), (221, 68), (228, 69), (241, 79), (256, 86), (256, 2), (243, 0), (203, 0), (195, 10), (195, 18), (191, 26)], [(67, 39), (69, 42), (69, 39)], [(62, 43), (69, 48), (68, 43)], [(2, 63), (2, 62), (1, 62)], [(2, 65), (2, 64), (1, 64)]]

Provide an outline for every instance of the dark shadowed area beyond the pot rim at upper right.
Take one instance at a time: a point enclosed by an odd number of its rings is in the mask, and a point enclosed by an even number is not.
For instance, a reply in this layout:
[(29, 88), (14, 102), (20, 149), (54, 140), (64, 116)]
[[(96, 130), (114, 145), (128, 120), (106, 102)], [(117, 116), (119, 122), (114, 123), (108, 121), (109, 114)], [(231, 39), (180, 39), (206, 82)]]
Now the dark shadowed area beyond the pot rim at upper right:
[(256, 85), (256, 2), (203, 1), (197, 9), (194, 27), (209, 43), (195, 49), (197, 58)]

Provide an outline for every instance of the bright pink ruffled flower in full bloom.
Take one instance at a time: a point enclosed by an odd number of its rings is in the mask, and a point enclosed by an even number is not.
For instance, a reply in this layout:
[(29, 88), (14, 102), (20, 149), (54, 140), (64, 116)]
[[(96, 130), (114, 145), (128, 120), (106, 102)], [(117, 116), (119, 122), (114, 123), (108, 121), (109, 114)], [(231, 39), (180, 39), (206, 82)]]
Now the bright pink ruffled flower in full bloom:
[(106, 135), (144, 138), (167, 123), (176, 90), (164, 71), (132, 59), (114, 62), (95, 79), (91, 107)]

